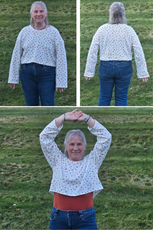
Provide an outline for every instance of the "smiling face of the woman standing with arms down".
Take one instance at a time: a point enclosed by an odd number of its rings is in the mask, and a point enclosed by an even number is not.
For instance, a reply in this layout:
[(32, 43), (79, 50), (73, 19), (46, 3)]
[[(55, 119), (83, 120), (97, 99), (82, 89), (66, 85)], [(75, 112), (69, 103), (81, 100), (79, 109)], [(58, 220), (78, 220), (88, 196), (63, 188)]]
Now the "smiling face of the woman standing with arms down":
[(33, 18), (35, 23), (44, 23), (45, 18), (47, 17), (47, 13), (41, 5), (38, 5), (31, 13), (31, 17)]

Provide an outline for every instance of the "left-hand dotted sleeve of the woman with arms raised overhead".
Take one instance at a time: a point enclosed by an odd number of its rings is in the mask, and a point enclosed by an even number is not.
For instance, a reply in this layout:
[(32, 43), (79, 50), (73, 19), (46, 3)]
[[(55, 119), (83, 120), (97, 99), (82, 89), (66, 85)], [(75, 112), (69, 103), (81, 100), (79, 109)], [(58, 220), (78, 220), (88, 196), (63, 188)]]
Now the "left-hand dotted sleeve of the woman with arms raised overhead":
[(62, 127), (57, 128), (54, 119), (39, 135), (42, 151), (51, 168), (56, 165), (63, 154), (54, 141)]

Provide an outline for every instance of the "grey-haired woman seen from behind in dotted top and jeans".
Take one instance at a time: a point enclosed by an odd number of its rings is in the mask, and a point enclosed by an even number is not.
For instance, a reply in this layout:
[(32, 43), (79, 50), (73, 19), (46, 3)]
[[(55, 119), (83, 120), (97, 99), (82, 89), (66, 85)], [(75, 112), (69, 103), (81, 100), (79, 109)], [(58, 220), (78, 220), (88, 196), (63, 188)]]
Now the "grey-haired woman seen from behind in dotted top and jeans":
[(109, 10), (109, 23), (99, 27), (95, 33), (88, 53), (85, 79), (95, 74), (97, 53), (100, 49), (100, 97), (99, 106), (109, 106), (115, 86), (115, 105), (127, 106), (128, 88), (132, 77), (133, 47), (138, 78), (147, 82), (149, 74), (139, 38), (132, 27), (126, 23), (124, 5), (114, 2)]

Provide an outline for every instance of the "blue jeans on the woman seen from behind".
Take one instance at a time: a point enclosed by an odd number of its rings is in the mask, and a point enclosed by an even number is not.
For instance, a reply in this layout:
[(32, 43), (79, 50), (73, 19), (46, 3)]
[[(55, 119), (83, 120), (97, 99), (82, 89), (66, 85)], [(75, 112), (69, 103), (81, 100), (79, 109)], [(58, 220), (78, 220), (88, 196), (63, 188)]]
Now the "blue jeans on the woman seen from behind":
[(100, 61), (100, 97), (98, 106), (109, 106), (115, 86), (115, 106), (127, 106), (133, 74), (132, 61)]

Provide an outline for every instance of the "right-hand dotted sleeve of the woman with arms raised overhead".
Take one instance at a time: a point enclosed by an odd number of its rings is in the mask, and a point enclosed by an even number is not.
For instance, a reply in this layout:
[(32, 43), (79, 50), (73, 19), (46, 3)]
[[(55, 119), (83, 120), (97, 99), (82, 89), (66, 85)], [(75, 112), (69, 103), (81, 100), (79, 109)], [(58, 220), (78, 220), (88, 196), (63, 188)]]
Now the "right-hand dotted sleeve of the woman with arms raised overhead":
[(93, 135), (97, 136), (97, 142), (94, 149), (90, 152), (90, 158), (95, 162), (97, 169), (99, 169), (110, 148), (112, 135), (96, 120), (94, 127), (88, 127), (88, 129)]

